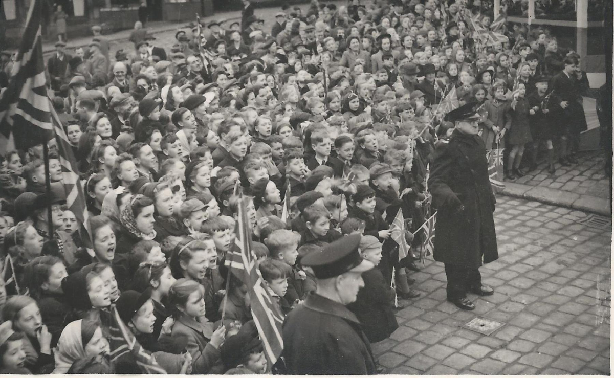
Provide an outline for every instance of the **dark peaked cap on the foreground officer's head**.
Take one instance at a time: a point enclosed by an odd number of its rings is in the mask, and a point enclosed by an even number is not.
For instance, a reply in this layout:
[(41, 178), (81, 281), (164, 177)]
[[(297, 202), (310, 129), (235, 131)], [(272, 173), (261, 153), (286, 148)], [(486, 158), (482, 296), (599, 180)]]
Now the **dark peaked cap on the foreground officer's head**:
[(362, 273), (375, 268), (360, 256), (360, 235), (343, 236), (327, 244), (321, 252), (312, 252), (301, 259), (303, 266), (313, 269), (318, 279), (329, 279), (346, 272)]

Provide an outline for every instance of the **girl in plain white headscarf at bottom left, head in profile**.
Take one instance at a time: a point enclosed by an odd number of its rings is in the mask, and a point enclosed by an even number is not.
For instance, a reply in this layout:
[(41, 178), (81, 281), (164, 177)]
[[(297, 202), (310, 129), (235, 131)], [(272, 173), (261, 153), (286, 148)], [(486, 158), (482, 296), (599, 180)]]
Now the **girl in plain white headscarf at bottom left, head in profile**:
[(55, 369), (52, 374), (66, 374), (80, 358), (106, 353), (109, 353), (109, 342), (104, 338), (99, 323), (89, 319), (75, 320), (62, 331), (55, 348)]

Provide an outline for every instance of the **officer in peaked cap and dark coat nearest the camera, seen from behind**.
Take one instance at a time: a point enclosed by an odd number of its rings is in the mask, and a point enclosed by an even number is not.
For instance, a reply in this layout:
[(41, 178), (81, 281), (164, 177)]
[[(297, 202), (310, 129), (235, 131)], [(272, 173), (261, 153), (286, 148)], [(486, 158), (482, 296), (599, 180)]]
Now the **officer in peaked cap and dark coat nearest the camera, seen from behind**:
[(364, 286), (362, 272), (374, 268), (359, 245), (360, 235), (345, 236), (301, 260), (313, 269), (317, 289), (286, 317), (282, 374), (376, 374), (367, 336), (345, 307)]

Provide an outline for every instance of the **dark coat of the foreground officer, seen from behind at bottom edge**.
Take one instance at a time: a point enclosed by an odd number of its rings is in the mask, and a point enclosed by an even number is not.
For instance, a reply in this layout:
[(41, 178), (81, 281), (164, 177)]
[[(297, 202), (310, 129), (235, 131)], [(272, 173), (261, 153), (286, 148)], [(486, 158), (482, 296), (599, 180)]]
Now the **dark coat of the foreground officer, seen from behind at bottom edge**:
[(371, 345), (356, 315), (311, 294), (284, 321), (283, 374), (376, 374)]

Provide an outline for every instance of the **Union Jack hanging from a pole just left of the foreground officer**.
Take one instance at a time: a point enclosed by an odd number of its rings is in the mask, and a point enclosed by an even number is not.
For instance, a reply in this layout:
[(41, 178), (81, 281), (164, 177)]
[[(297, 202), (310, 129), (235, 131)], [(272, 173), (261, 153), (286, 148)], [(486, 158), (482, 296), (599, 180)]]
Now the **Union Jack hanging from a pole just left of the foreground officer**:
[(270, 292), (266, 289), (260, 269), (256, 266), (257, 258), (252, 250), (251, 231), (247, 219), (246, 199), (239, 201), (238, 222), (236, 223), (235, 247), (226, 255), (225, 265), (237, 277), (243, 279), (249, 288), (252, 317), (269, 366), (281, 356), (284, 341), (281, 334), (283, 315), (274, 304)]

